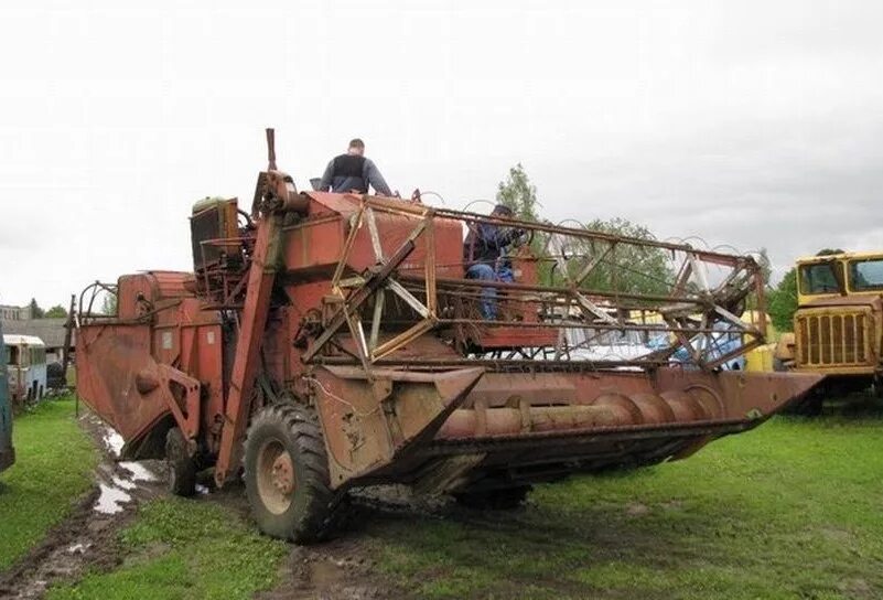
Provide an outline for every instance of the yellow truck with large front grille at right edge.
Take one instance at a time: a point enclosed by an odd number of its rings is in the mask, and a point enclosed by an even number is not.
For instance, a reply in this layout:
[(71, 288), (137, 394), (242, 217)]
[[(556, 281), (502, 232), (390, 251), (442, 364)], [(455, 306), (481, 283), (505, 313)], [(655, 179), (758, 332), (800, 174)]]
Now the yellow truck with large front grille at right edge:
[(883, 340), (883, 253), (842, 253), (797, 260), (794, 333), (776, 347), (780, 369), (827, 375), (803, 403), (817, 413), (826, 396), (879, 384)]

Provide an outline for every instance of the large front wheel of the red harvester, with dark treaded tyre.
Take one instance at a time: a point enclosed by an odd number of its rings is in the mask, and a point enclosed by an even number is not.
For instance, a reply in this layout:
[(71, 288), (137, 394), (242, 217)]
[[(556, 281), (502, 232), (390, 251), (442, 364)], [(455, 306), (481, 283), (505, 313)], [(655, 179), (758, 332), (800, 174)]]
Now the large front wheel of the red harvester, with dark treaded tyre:
[(258, 527), (306, 544), (331, 528), (334, 493), (315, 414), (293, 403), (265, 407), (245, 442), (245, 484)]

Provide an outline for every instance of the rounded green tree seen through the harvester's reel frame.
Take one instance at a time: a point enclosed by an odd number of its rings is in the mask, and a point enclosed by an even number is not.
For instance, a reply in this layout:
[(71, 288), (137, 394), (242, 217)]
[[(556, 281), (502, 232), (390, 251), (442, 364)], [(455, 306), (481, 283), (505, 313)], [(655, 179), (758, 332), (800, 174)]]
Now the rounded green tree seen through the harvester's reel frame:
[[(638, 239), (655, 239), (650, 231), (626, 218), (595, 219), (586, 225), (594, 232), (615, 234)], [(581, 254), (599, 256), (610, 249), (604, 242), (586, 243)], [(585, 262), (585, 260), (582, 260)], [(574, 265), (579, 267), (579, 265)], [(675, 274), (668, 255), (660, 248), (617, 244), (582, 283), (583, 288), (633, 293), (666, 293)]]

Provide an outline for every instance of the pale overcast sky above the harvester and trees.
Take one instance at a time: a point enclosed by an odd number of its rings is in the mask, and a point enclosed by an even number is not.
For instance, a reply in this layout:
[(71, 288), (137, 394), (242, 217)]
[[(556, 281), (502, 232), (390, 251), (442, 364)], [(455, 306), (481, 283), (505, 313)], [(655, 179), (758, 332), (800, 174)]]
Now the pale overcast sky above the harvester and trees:
[[(299, 188), (362, 137), (449, 207), (521, 162), (552, 221), (883, 246), (883, 2), (3, 2), (0, 302), (190, 269), (263, 128)], [(699, 242), (693, 240), (697, 244)]]

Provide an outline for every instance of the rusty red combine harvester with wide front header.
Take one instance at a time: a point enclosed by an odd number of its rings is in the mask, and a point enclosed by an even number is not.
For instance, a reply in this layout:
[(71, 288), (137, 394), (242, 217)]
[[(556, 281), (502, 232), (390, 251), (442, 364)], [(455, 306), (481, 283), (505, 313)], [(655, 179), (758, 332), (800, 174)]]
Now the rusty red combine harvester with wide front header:
[[(218, 485), (241, 473), (267, 534), (317, 539), (371, 484), (514, 506), (534, 482), (685, 458), (818, 381), (719, 369), (764, 342), (737, 315), (763, 302), (751, 257), (298, 192), (268, 142), (250, 212), (194, 206), (194, 272), (87, 289), (76, 347), (78, 393), (127, 459), (166, 458), (182, 495), (198, 470)], [(524, 229), (513, 282), (465, 278), (464, 236), (480, 226)], [(644, 256), (671, 276), (653, 292), (650, 276), (624, 277)], [(116, 315), (91, 310), (103, 292)], [(586, 357), (626, 334), (646, 352)], [(743, 342), (711, 352), (720, 335)], [(689, 361), (672, 363), (682, 349)]]

